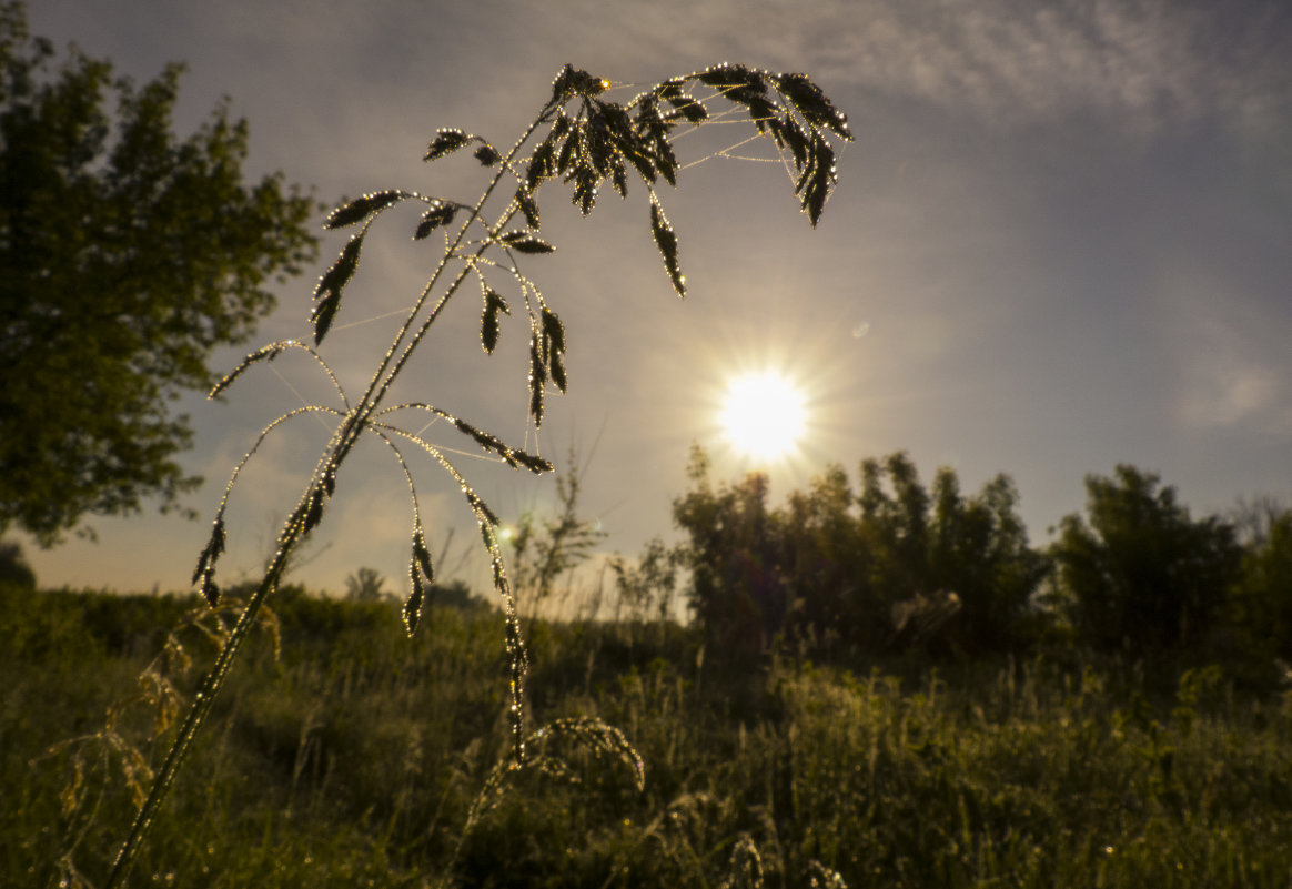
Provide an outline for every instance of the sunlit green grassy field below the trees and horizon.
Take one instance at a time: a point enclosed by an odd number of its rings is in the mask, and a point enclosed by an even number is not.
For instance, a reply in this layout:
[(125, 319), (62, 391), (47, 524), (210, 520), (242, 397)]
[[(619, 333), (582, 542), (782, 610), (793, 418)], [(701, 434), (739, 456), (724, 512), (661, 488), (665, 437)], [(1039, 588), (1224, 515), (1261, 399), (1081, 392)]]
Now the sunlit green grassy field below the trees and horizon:
[[(213, 654), (172, 634), (195, 605), (0, 591), (0, 885), (101, 883)], [(619, 726), (645, 791), (571, 749), (464, 833), (509, 744), (500, 616), (435, 609), (408, 641), (391, 605), (275, 614), (132, 885), (1292, 883), (1292, 696), (1220, 667), (735, 668), (674, 625), (536, 624), (534, 722)]]

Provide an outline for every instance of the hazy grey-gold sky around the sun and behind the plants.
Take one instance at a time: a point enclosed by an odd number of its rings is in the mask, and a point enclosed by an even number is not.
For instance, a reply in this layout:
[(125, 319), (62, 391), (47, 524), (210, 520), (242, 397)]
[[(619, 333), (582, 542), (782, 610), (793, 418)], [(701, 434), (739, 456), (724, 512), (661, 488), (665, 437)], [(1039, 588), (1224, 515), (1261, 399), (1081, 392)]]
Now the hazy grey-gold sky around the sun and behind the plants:
[[(34, 34), (75, 41), (137, 81), (182, 61), (176, 128), (222, 96), (251, 127), (244, 172), (282, 171), (332, 204), (388, 187), (473, 202), (469, 158), (424, 164), (438, 128), (510, 145), (570, 62), (628, 101), (645, 85), (730, 61), (810, 75), (855, 141), (814, 230), (775, 163), (712, 156), (740, 137), (681, 143), (662, 200), (681, 244), (678, 300), (651, 242), (643, 191), (584, 220), (556, 189), (526, 266), (567, 328), (568, 394), (535, 438), (522, 326), (479, 348), (479, 305), (451, 304), (401, 380), (435, 403), (581, 472), (580, 512), (605, 553), (676, 539), (671, 503), (703, 446), (717, 479), (757, 468), (718, 424), (722, 392), (774, 370), (804, 392), (806, 430), (762, 466), (773, 500), (828, 464), (910, 452), (925, 481), (965, 492), (1008, 473), (1036, 545), (1084, 504), (1083, 478), (1119, 463), (1156, 472), (1195, 516), (1239, 497), (1292, 500), (1292, 6), (1182, 0), (677, 0), (362, 4), (40, 0)], [(716, 138), (717, 141), (713, 141)], [(774, 158), (751, 143), (733, 154)], [(550, 187), (550, 186), (545, 186)], [(438, 260), (391, 211), (322, 348), (362, 390)], [(322, 222), (322, 214), (319, 218)], [(261, 344), (309, 335), (317, 271), (278, 289)], [(207, 478), (183, 521), (155, 509), (96, 518), (27, 558), (45, 587), (181, 591), (229, 473), (258, 430), (329, 399), (304, 353), (243, 377), (218, 402), (185, 397)], [(470, 450), (443, 428), (437, 443)], [(306, 417), (266, 441), (235, 488), (225, 581), (255, 572), (327, 439)], [(504, 519), (550, 514), (550, 477), (456, 456)], [(432, 548), (478, 583), (474, 522), (428, 460), (413, 465)], [(340, 591), (371, 566), (407, 585), (411, 508), (380, 444), (344, 466), (293, 575)], [(464, 561), (465, 560), (465, 561)]]

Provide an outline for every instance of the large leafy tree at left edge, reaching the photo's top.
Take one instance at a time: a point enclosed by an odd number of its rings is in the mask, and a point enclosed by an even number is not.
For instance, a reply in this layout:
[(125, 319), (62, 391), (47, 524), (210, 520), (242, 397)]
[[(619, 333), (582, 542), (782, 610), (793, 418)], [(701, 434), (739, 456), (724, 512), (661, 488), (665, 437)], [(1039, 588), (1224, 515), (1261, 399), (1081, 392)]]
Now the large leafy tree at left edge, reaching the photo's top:
[(0, 532), (43, 545), (200, 483), (169, 402), (209, 388), (212, 349), (245, 340), (266, 284), (315, 249), (311, 199), (282, 174), (243, 181), (227, 103), (172, 133), (181, 66), (137, 88), (76, 48), (53, 57), (22, 4), (0, 5)]

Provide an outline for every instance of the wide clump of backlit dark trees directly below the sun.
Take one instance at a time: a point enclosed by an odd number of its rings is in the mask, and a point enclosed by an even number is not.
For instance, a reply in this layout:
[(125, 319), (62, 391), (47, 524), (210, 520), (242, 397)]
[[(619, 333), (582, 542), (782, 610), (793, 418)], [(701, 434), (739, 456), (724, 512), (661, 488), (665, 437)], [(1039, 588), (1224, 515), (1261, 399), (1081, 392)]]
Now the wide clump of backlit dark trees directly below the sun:
[(689, 536), (691, 607), (716, 650), (747, 655), (778, 638), (818, 656), (1023, 641), (1048, 566), (1027, 544), (1008, 476), (965, 497), (941, 469), (930, 495), (898, 452), (862, 461), (859, 494), (831, 466), (783, 508), (769, 507), (757, 473), (714, 487), (703, 451), (689, 476), (673, 518)]

